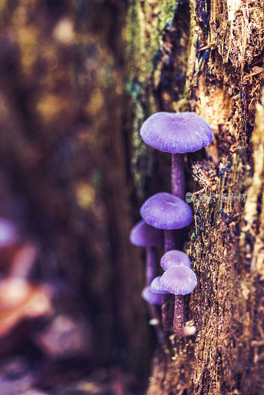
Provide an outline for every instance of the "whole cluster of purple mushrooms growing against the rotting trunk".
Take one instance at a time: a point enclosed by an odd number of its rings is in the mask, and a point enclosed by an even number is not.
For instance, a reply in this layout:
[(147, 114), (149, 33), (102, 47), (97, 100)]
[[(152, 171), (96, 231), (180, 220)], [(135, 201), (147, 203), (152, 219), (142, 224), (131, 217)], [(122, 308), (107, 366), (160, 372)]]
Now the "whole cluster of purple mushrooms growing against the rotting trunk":
[[(172, 154), (172, 194), (161, 192), (149, 197), (140, 208), (142, 220), (130, 235), (132, 244), (146, 248), (146, 286), (142, 297), (149, 304), (150, 323), (155, 325), (158, 340), (162, 342), (164, 331), (174, 330), (181, 336), (195, 333), (195, 326), (185, 327), (183, 323), (183, 295), (193, 291), (197, 278), (190, 268), (189, 257), (175, 249), (174, 230), (192, 221), (191, 208), (183, 200), (184, 154), (210, 145), (214, 132), (208, 122), (195, 113), (159, 112), (145, 120), (140, 135), (151, 147)], [(165, 254), (160, 265), (165, 272), (157, 276), (155, 247), (163, 243)], [(175, 295), (174, 318), (172, 294)], [(162, 322), (158, 305), (161, 305)]]

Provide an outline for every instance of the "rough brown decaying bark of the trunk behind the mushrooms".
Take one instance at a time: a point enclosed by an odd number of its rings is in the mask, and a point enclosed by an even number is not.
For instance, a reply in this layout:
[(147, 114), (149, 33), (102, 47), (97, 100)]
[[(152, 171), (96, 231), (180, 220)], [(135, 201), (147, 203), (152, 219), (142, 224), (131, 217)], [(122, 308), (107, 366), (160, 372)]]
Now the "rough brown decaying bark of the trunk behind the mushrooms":
[(197, 334), (172, 335), (156, 350), (147, 395), (264, 392), (263, 7), (263, 0), (130, 2), (139, 201), (170, 190), (170, 158), (140, 141), (145, 118), (195, 111), (215, 131), (213, 145), (185, 162), (186, 191), (211, 195), (197, 195), (185, 242), (198, 277), (185, 316)]

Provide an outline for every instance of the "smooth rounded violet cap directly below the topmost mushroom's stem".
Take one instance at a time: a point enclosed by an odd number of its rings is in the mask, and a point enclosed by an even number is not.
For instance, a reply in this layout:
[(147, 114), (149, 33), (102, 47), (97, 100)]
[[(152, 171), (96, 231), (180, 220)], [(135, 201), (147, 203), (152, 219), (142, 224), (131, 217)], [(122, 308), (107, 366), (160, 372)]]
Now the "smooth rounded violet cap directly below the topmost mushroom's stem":
[(140, 208), (144, 221), (158, 229), (181, 229), (191, 223), (190, 206), (172, 194), (159, 192), (149, 197)]

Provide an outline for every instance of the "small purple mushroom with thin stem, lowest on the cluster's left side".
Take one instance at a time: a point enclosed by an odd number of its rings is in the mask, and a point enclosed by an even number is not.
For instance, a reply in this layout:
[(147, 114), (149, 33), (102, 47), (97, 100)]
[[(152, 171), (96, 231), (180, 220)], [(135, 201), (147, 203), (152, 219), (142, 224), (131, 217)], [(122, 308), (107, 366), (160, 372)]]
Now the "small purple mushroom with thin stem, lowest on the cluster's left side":
[(148, 303), (148, 312), (152, 319), (149, 323), (155, 326), (156, 335), (160, 344), (164, 341), (164, 334), (160, 325), (159, 312), (156, 305), (162, 305), (162, 295), (154, 293), (150, 289), (150, 285), (146, 286), (142, 293), (142, 298)]

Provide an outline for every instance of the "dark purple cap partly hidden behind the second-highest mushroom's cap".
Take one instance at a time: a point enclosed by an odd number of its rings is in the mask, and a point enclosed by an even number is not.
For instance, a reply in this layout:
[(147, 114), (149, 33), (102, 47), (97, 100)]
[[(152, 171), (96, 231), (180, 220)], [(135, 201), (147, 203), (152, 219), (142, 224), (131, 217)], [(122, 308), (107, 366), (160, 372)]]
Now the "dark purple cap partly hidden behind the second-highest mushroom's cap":
[(130, 233), (130, 242), (140, 247), (154, 247), (163, 243), (163, 232), (161, 229), (153, 228), (144, 220), (133, 226)]

